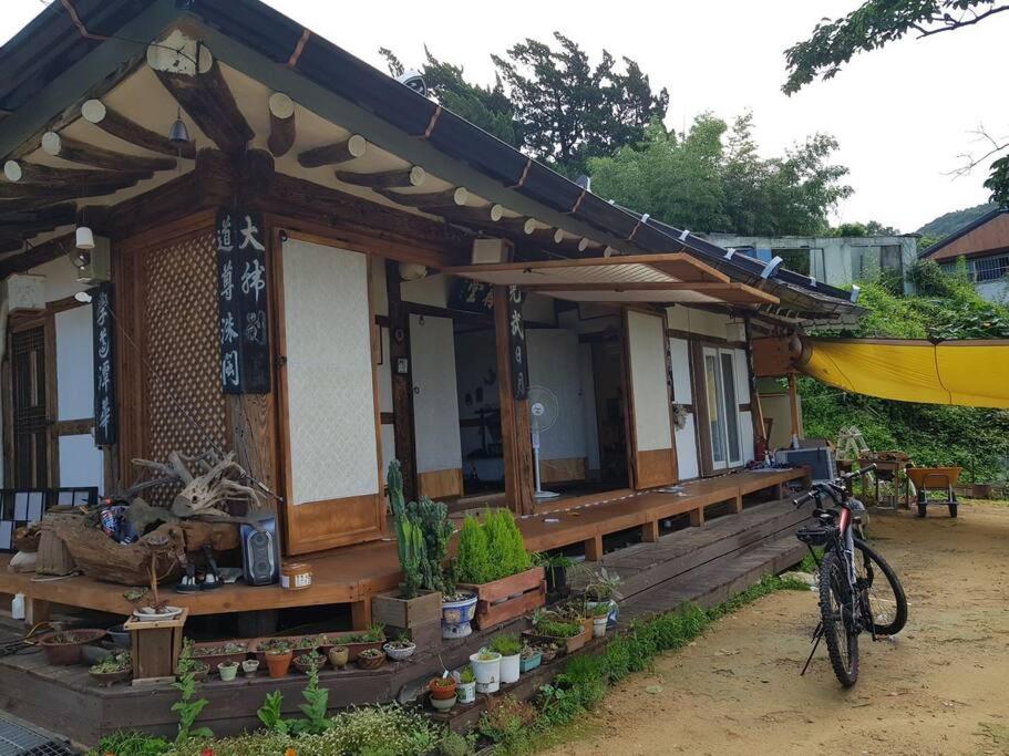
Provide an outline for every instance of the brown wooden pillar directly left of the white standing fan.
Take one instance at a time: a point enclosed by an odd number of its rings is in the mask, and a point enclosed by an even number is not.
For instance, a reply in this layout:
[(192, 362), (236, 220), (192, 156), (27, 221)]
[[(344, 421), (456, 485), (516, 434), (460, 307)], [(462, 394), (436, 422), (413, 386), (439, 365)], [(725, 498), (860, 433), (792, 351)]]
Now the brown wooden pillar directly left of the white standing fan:
[(494, 287), (494, 338), (497, 342), (497, 385), (501, 398), (501, 441), (505, 468), (505, 499), (516, 515), (532, 515), (533, 443), (529, 403), (512, 396), (508, 353), (508, 288)]

